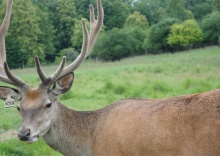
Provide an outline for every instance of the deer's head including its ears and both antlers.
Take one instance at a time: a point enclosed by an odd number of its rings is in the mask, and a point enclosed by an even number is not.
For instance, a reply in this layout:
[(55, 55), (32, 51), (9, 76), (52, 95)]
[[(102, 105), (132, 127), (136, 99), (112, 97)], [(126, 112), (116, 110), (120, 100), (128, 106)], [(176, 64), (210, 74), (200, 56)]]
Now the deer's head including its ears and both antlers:
[(0, 80), (16, 88), (0, 86), (0, 98), (5, 100), (7, 97), (10, 97), (20, 102), (17, 109), (23, 121), (18, 131), (18, 138), (21, 141), (34, 142), (38, 140), (39, 136), (47, 133), (51, 122), (56, 120), (57, 97), (71, 88), (74, 79), (73, 71), (79, 67), (92, 51), (103, 24), (104, 12), (101, 0), (98, 0), (96, 20), (94, 8), (90, 5), (90, 32), (85, 25), (85, 21), (82, 20), (82, 50), (76, 60), (70, 65), (65, 67), (66, 58), (63, 57), (58, 69), (51, 76), (46, 76), (38, 57), (35, 56), (37, 73), (41, 82), (37, 88), (31, 88), (23, 80), (12, 74), (6, 61), (5, 34), (10, 23), (12, 2), (13, 0), (8, 0), (6, 15), (0, 28)]

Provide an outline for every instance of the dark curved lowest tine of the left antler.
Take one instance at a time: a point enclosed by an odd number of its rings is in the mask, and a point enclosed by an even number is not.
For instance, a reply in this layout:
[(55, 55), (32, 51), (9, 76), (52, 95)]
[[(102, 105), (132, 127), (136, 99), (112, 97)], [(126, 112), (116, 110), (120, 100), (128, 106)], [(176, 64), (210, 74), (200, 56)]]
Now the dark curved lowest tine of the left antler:
[(24, 86), (28, 86), (23, 80), (19, 79), (18, 77), (14, 76), (9, 67), (8, 67), (8, 63), (4, 62), (4, 70), (5, 70), (5, 74), (7, 75), (7, 77), (9, 78), (9, 80), (11, 80), (10, 84), (13, 84), (17, 87), (24, 87)]

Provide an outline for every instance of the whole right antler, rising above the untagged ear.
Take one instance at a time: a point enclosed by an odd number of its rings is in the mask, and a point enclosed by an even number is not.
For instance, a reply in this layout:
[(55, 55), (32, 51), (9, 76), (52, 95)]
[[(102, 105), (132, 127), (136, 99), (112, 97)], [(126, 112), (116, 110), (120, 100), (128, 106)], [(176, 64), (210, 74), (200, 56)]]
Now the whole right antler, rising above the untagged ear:
[(63, 59), (60, 67), (53, 74), (53, 76), (46, 77), (44, 72), (41, 69), (38, 57), (35, 57), (37, 72), (42, 81), (42, 84), (50, 87), (50, 85), (52, 85), (60, 77), (76, 70), (80, 66), (80, 64), (85, 60), (85, 58), (91, 53), (92, 48), (98, 37), (98, 34), (101, 30), (101, 26), (103, 24), (103, 18), (104, 18), (104, 11), (102, 8), (101, 0), (97, 0), (97, 6), (98, 6), (97, 7), (98, 8), (97, 20), (95, 19), (93, 6), (92, 5), (89, 6), (90, 7), (90, 33), (88, 33), (88, 29), (86, 27), (85, 21), (82, 20), (83, 45), (82, 45), (82, 50), (79, 56), (76, 58), (74, 62), (72, 62), (69, 66), (63, 69), (64, 63), (65, 63)]

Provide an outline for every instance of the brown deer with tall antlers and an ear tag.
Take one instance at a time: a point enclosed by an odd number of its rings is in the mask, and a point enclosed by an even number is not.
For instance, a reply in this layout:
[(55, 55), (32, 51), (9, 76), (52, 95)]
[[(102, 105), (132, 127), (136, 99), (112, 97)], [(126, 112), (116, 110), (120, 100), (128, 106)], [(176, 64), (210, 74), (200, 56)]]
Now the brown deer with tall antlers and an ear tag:
[(218, 156), (220, 155), (220, 90), (163, 99), (128, 98), (94, 111), (75, 111), (58, 102), (68, 92), (74, 71), (90, 54), (103, 24), (97, 0), (97, 20), (90, 5), (90, 33), (82, 20), (83, 44), (68, 66), (63, 57), (46, 76), (35, 56), (41, 82), (31, 88), (8, 67), (5, 50), (13, 0), (0, 28), (0, 98), (18, 101), (22, 117), (18, 139), (27, 143), (42, 137), (63, 155), (83, 156)]

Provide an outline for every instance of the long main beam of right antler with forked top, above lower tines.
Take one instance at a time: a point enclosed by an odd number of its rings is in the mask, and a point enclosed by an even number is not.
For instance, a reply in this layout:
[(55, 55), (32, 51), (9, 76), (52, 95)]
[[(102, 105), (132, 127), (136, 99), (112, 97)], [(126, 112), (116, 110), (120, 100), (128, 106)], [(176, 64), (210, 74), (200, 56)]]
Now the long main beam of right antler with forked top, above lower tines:
[(101, 0), (97, 0), (97, 8), (98, 8), (98, 18), (95, 19), (94, 15), (94, 8), (92, 5), (90, 5), (90, 35), (88, 34), (88, 29), (85, 25), (85, 21), (82, 20), (82, 27), (83, 27), (83, 46), (80, 55), (76, 58), (76, 60), (71, 63), (69, 66), (64, 68), (63, 72), (59, 76), (62, 77), (63, 75), (73, 72), (76, 70), (79, 65), (85, 60), (85, 58), (90, 54), (92, 51), (92, 48), (95, 44), (95, 41), (98, 37), (98, 34), (100, 32), (103, 18), (104, 18), (104, 11), (102, 8)]

